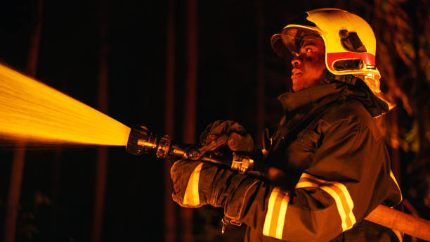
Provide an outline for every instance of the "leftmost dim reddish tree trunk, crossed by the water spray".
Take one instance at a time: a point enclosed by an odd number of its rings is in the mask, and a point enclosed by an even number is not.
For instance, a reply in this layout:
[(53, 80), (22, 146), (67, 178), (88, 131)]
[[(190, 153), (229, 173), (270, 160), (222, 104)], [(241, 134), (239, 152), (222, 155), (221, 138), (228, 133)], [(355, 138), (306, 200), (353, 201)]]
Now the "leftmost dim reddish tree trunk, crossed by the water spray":
[[(30, 47), (27, 57), (27, 75), (34, 77), (37, 72), (37, 57), (39, 56), (39, 44), (41, 33), (43, 0), (37, 1), (36, 14), (34, 14), (32, 33), (30, 36)], [(6, 219), (4, 224), (4, 241), (15, 241), (16, 220), (20, 202), (22, 172), (25, 163), (25, 143), (16, 144), (12, 160), (11, 185), (9, 186), (8, 200), (6, 201)]]

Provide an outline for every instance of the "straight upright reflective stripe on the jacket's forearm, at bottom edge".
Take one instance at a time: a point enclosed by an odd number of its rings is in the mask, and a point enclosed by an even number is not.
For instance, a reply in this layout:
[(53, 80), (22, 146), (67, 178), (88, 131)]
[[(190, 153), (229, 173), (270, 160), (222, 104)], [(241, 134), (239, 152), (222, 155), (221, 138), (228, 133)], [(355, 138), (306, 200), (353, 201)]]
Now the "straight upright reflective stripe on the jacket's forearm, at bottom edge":
[(280, 191), (279, 187), (275, 187), (268, 201), (266, 219), (264, 219), (263, 227), (264, 236), (282, 239), (288, 203), (288, 193)]

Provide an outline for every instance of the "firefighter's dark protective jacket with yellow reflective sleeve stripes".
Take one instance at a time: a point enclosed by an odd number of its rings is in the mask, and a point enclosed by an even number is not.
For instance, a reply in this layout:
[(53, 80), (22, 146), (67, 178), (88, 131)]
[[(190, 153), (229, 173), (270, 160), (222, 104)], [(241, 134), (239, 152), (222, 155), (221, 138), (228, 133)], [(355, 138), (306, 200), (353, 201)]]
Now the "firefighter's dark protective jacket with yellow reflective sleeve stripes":
[(228, 219), (247, 225), (245, 241), (397, 241), (390, 229), (363, 220), (402, 198), (373, 118), (384, 106), (353, 81), (278, 98), (285, 117), (265, 132), (264, 163), (277, 168), (268, 180), (200, 164), (176, 200), (223, 207)]

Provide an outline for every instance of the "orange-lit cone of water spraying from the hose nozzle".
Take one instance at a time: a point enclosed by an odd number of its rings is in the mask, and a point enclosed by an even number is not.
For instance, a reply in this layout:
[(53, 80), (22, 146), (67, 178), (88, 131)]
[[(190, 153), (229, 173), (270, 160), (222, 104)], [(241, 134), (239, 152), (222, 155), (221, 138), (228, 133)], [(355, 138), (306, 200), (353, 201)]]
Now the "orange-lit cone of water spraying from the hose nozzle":
[(125, 146), (130, 128), (0, 64), (0, 139)]

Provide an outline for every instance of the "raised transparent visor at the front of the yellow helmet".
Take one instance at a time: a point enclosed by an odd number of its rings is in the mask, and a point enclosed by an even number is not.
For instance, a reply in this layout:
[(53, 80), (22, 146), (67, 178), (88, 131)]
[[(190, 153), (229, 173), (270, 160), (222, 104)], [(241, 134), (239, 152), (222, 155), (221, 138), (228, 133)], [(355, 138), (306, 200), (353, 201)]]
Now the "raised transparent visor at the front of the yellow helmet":
[(280, 34), (273, 35), (271, 39), (272, 48), (282, 58), (299, 56), (300, 48), (306, 40), (323, 39), (314, 31), (301, 27), (288, 27)]

